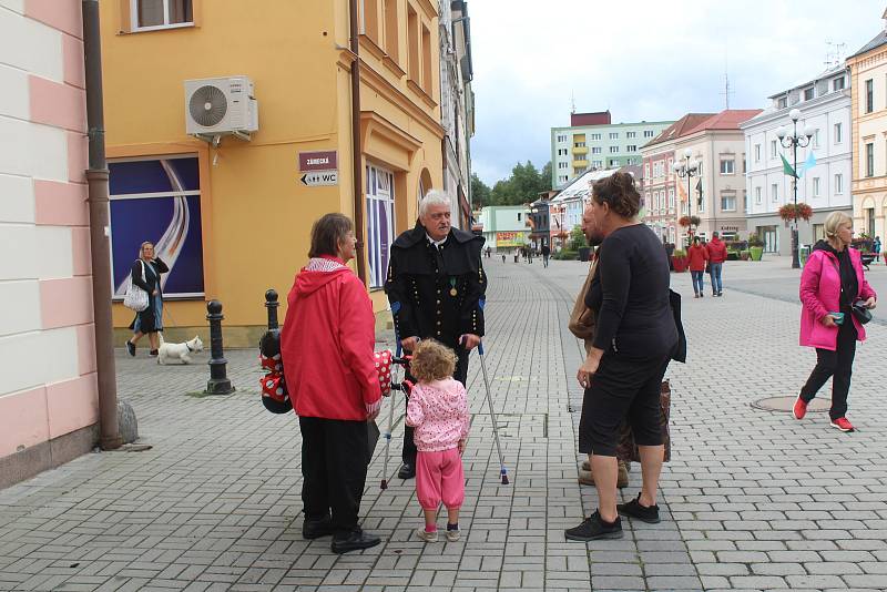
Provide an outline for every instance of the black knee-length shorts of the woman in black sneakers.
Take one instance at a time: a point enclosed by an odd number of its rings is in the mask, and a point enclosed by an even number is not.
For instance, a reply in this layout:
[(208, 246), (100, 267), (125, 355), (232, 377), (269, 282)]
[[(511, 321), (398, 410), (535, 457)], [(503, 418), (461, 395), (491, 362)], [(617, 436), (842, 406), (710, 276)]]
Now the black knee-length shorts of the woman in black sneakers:
[(669, 357), (626, 358), (606, 353), (582, 399), (579, 451), (615, 457), (619, 430), (628, 421), (639, 446), (659, 446), (662, 439), (660, 391)]

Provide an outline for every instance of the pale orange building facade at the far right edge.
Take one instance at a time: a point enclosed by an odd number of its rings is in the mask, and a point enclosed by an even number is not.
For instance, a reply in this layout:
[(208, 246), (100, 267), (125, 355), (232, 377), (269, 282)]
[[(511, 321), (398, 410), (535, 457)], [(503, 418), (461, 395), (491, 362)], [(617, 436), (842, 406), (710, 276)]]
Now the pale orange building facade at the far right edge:
[[(887, 18), (885, 12), (883, 18)], [(853, 216), (856, 234), (887, 235), (887, 33), (856, 54), (850, 70), (853, 120)]]

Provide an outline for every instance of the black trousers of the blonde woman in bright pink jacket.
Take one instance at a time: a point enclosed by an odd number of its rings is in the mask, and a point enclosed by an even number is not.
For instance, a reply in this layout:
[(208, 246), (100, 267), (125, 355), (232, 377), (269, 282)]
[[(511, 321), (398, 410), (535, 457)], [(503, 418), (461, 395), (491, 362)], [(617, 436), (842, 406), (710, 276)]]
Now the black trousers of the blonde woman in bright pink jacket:
[(828, 415), (838, 419), (847, 415), (847, 395), (850, 392), (853, 358), (856, 356), (856, 326), (847, 312), (844, 323), (838, 328), (837, 349), (816, 348), (816, 367), (801, 389), (801, 398), (809, 402), (816, 392), (832, 378), (832, 409)]

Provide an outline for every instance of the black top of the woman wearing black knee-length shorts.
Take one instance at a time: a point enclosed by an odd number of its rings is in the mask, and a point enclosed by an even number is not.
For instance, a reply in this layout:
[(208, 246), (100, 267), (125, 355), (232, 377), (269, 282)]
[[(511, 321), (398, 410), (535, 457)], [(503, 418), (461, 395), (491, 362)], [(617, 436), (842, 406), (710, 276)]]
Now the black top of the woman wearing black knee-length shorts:
[(669, 294), (669, 259), (653, 231), (644, 224), (613, 231), (598, 249), (598, 258), (585, 295), (585, 306), (598, 312), (594, 347), (636, 358), (671, 354), (677, 328)]

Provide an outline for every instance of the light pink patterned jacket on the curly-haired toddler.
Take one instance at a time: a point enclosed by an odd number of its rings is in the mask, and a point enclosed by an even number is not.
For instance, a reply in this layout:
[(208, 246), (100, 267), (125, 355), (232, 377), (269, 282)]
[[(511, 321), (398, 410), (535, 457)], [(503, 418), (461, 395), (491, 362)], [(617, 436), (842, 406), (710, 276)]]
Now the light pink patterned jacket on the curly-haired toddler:
[(419, 384), (407, 404), (407, 426), (416, 428), (412, 440), (420, 452), (456, 448), (468, 437), (468, 398), (453, 378)]

